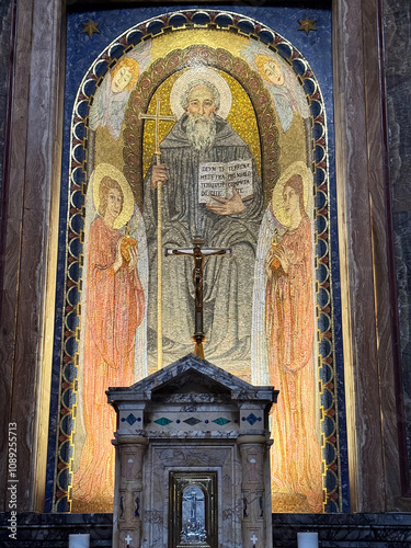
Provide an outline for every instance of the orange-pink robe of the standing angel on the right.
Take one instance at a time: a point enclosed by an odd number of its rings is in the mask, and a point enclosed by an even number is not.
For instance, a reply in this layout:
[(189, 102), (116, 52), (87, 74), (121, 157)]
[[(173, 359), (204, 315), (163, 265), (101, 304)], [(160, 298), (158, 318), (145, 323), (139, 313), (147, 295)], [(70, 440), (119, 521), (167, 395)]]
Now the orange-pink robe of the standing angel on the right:
[[(316, 436), (313, 375), (312, 237), (307, 216), (278, 241), (287, 274), (272, 266), (266, 285), (271, 383), (279, 390), (273, 411), (273, 493), (305, 495), (306, 511), (322, 510), (321, 449)], [(275, 509), (274, 509), (275, 511)]]

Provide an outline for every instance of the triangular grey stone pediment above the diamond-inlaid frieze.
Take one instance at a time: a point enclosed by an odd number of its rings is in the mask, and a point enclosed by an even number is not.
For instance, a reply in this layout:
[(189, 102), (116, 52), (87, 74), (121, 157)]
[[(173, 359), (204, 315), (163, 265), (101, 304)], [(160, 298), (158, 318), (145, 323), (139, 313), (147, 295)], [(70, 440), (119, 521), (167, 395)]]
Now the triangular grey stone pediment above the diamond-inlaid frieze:
[(189, 354), (130, 387), (111, 387), (109, 402), (121, 401), (266, 401), (273, 387), (255, 387), (195, 354)]

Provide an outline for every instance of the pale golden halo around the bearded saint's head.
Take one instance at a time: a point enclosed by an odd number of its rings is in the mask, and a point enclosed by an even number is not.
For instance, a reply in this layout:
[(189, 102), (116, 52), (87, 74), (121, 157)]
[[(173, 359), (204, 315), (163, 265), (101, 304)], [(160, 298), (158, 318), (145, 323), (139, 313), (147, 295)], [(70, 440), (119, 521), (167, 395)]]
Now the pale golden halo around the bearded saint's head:
[(218, 115), (221, 118), (227, 118), (231, 110), (232, 95), (231, 90), (222, 76), (217, 70), (209, 67), (195, 67), (183, 72), (174, 82), (170, 93), (170, 105), (174, 116), (180, 119), (184, 114), (184, 109), (181, 106), (181, 95), (185, 92), (192, 82), (204, 80), (213, 83), (220, 94), (220, 106)]

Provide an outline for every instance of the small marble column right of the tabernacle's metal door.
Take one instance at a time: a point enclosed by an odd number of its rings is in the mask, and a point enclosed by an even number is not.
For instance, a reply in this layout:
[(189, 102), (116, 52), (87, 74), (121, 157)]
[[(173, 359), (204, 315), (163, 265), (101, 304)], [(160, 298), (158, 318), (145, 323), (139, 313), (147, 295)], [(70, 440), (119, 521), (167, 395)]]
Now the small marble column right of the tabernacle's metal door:
[(242, 546), (267, 548), (271, 546), (266, 538), (266, 515), (271, 516), (271, 504), (266, 505), (264, 477), (267, 439), (261, 435), (242, 435), (237, 443), (242, 464)]

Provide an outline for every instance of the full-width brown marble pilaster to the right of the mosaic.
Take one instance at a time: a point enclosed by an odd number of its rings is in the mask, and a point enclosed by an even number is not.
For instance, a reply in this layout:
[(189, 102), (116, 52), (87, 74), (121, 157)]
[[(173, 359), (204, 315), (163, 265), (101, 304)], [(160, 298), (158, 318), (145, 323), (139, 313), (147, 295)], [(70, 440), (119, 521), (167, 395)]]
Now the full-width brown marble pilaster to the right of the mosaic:
[(342, 1), (334, 2), (333, 8), (352, 510), (384, 511), (393, 507), (399, 494), (399, 455), (386, 246), (378, 2)]

